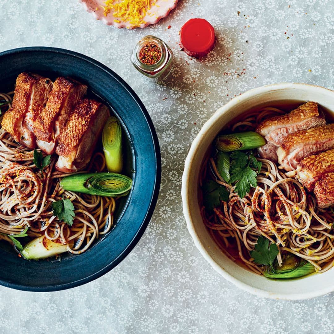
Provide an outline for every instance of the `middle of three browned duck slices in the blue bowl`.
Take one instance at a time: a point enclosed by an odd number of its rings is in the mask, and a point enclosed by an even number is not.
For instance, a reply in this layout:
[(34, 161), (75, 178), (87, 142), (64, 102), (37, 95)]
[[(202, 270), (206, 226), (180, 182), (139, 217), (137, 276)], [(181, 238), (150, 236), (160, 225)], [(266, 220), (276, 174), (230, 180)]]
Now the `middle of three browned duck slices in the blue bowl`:
[(58, 77), (42, 113), (34, 122), (37, 145), (47, 154), (55, 151), (57, 137), (64, 127), (72, 108), (87, 93), (87, 86), (65, 77)]

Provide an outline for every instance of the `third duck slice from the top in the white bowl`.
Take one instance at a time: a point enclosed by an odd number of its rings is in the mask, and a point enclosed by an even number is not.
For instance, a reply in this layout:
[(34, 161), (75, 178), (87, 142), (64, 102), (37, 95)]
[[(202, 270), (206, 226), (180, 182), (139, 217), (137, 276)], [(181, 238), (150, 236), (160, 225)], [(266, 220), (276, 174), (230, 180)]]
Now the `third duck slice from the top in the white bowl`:
[(326, 173), (334, 172), (334, 149), (304, 158), (297, 166), (297, 179), (308, 191)]

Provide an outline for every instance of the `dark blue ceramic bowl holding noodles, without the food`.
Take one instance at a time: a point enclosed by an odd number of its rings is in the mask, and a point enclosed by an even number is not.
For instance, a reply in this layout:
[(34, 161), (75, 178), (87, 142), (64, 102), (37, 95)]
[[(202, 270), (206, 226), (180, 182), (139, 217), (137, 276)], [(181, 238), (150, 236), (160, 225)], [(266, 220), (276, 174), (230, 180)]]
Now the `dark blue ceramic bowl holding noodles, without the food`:
[[(130, 65), (129, 65), (130, 66)], [(143, 103), (111, 69), (82, 54), (50, 47), (0, 53), (0, 92), (13, 90), (20, 72), (70, 76), (86, 83), (123, 125), (125, 173), (133, 178), (129, 196), (119, 202), (116, 226), (85, 253), (61, 261), (26, 261), (0, 242), (0, 284), (27, 291), (56, 291), (90, 282), (117, 266), (143, 235), (157, 202), (161, 177), (158, 138)]]

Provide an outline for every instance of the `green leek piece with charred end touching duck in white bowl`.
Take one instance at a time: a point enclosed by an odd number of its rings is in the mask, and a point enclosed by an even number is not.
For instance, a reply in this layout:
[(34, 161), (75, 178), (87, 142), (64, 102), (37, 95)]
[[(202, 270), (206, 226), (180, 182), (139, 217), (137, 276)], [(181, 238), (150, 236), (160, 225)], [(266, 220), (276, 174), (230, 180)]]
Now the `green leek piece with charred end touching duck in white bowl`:
[(216, 148), (221, 152), (252, 150), (265, 144), (266, 140), (253, 131), (222, 135), (216, 139)]

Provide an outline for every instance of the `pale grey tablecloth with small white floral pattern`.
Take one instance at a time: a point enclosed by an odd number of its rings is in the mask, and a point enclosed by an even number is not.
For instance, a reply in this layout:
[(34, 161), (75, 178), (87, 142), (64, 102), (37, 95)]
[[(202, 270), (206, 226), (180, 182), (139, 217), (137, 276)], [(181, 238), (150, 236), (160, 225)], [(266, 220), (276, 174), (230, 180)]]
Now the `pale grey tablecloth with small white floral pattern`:
[[(332, 294), (267, 300), (220, 277), (194, 246), (180, 197), (193, 138), (232, 97), (282, 81), (333, 88), (332, 9), (330, 0), (180, 0), (159, 24), (118, 30), (95, 20), (77, 0), (1, 0), (0, 51), (71, 49), (103, 62), (130, 84), (155, 124), (163, 172), (153, 218), (117, 268), (61, 292), (0, 287), (0, 333), (333, 333)], [(217, 35), (214, 50), (201, 61), (178, 46), (179, 29), (191, 17), (206, 18)], [(176, 56), (170, 77), (158, 85), (129, 60), (148, 34), (165, 40)]]

